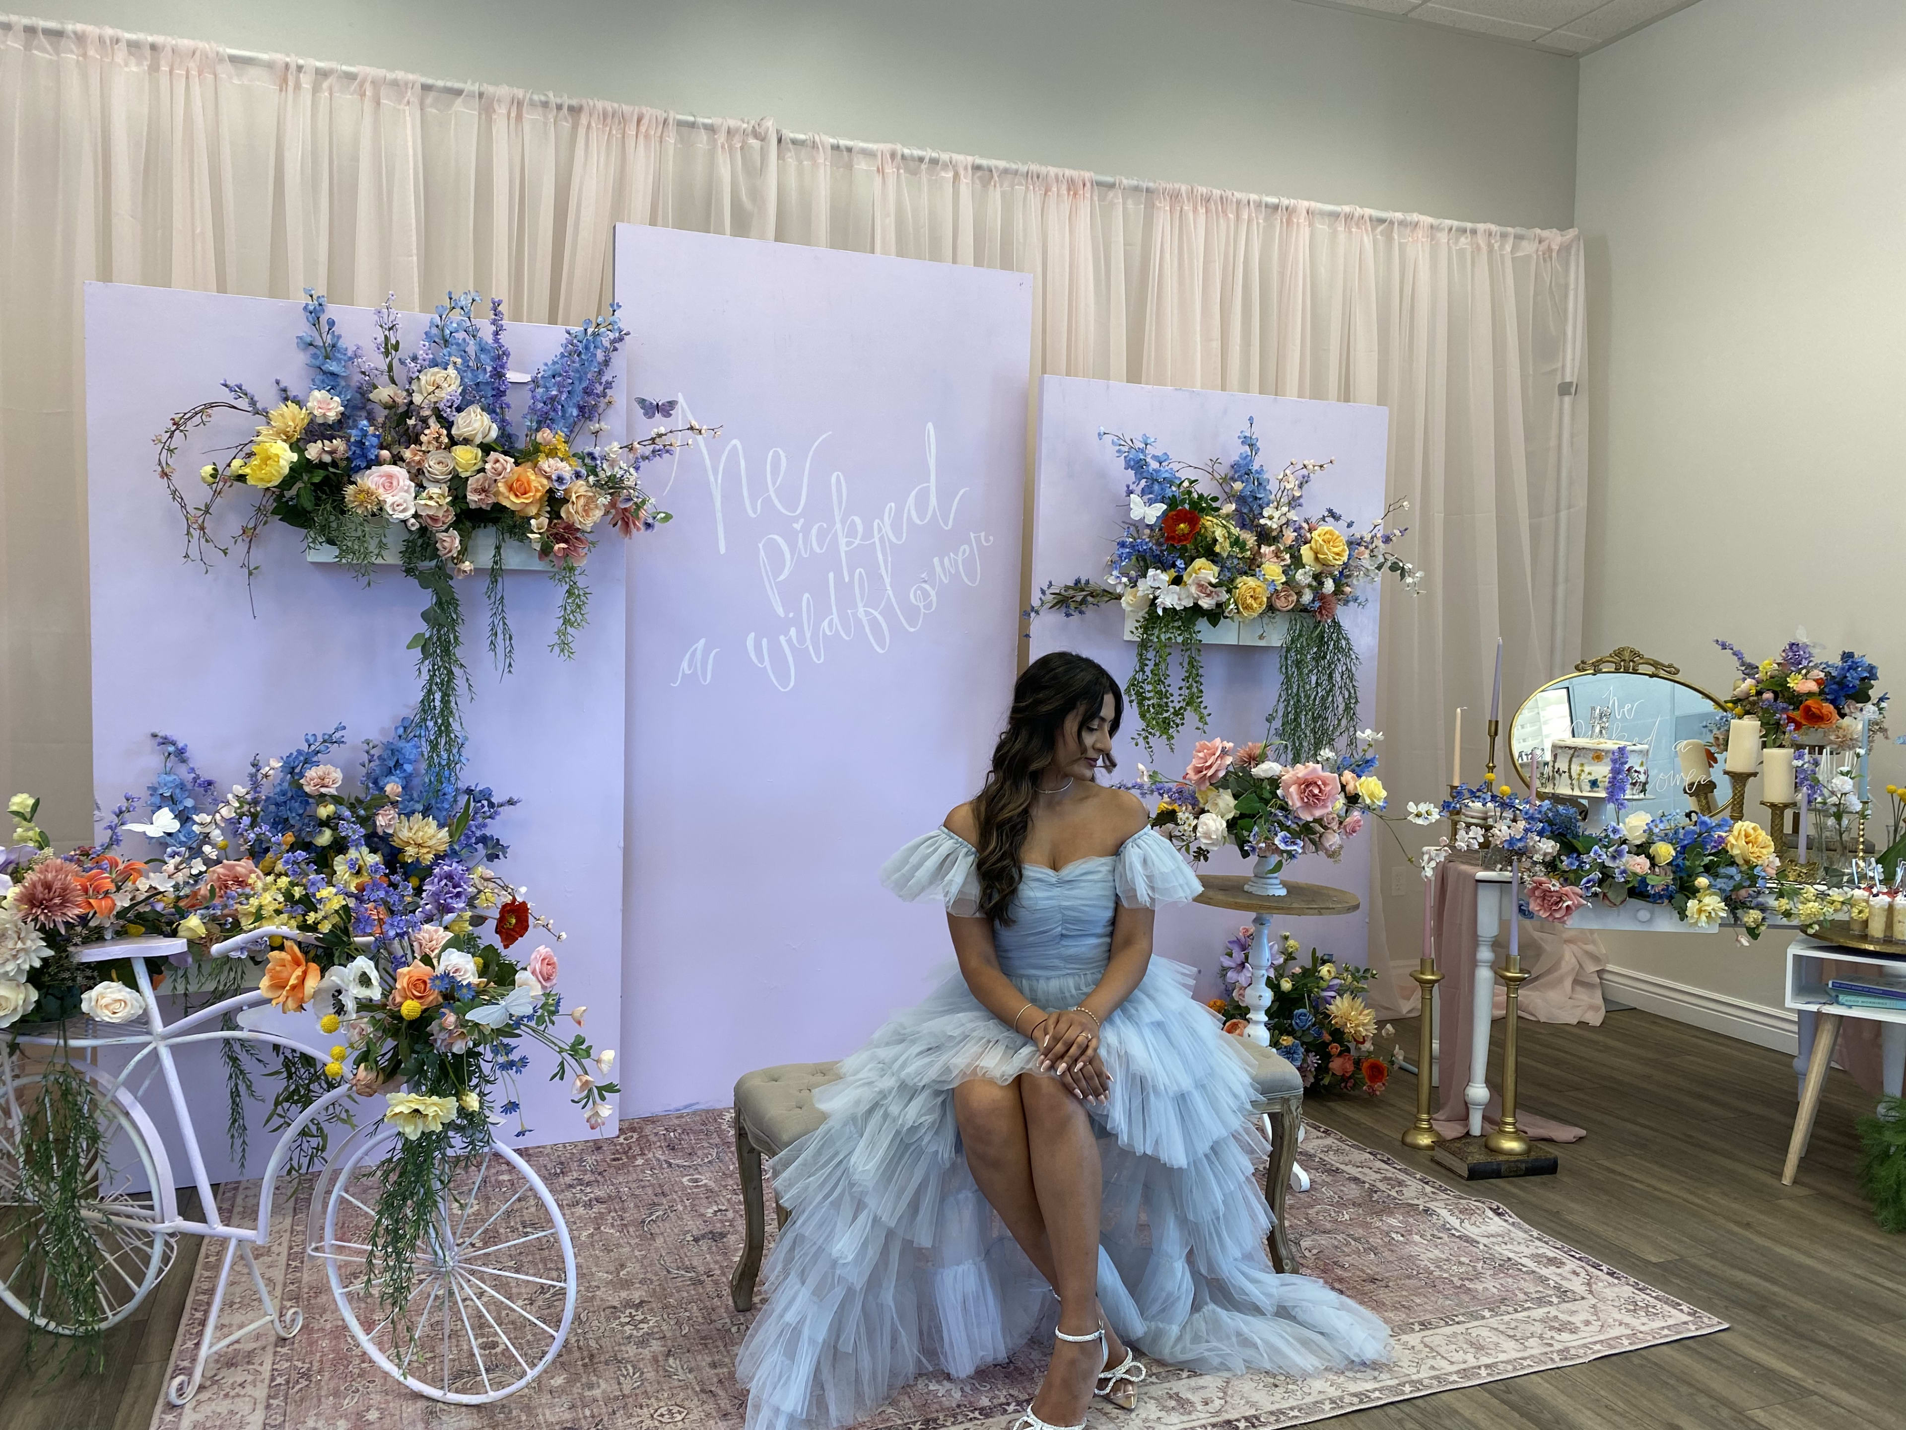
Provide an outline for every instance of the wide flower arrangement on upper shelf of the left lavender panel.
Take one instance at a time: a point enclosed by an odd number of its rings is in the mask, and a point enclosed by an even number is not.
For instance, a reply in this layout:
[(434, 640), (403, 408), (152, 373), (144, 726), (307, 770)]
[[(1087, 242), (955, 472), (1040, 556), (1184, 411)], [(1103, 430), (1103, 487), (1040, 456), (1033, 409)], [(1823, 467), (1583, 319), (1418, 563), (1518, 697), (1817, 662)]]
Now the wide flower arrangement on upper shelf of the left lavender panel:
[[(459, 700), (471, 684), (454, 582), (476, 570), (475, 538), (494, 538), (484, 595), (497, 669), (511, 669), (515, 658), (501, 580), (507, 541), (534, 549), (562, 587), (551, 648), (572, 658), (589, 612), (581, 568), (597, 532), (606, 524), (633, 536), (667, 521), (639, 473), (707, 429), (690, 421), (598, 444), (614, 400), (616, 351), (627, 336), (616, 307), (570, 330), (560, 353), (537, 368), (518, 425), (509, 410), (499, 301), (482, 313), (476, 294), (452, 294), (410, 353), (387, 303), (377, 309), (377, 351), (366, 355), (343, 341), (320, 294), (305, 290), (305, 297), (307, 332), (297, 345), (309, 393), (297, 397), (280, 381), (278, 400), (267, 402), (227, 381), (225, 398), (181, 412), (154, 439), (158, 473), (185, 517), (187, 557), (202, 564), (208, 551), (236, 549), (248, 574), (255, 572), (252, 545), (267, 521), (297, 528), (309, 547), (334, 547), (364, 578), (395, 547), (404, 574), (431, 597), (410, 646), (423, 677), (427, 753), (435, 766), (450, 768), (463, 732)], [(637, 406), (644, 418), (675, 416), (673, 402)], [(187, 437), (223, 412), (248, 416), (257, 429), (223, 463), (200, 469), (210, 490), (189, 500), (175, 463)], [(238, 490), (257, 501), (227, 541), (213, 534), (212, 513)]]

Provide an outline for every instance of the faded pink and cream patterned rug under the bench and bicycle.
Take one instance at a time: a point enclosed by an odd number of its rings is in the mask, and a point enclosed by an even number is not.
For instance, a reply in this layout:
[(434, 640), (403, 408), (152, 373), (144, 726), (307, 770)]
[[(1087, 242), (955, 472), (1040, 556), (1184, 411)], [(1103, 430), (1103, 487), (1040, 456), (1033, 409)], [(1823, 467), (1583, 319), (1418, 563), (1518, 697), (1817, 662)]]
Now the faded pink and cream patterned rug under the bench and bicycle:
[[(160, 1405), (154, 1430), (621, 1430), (740, 1426), (734, 1352), (749, 1318), (728, 1302), (741, 1247), (732, 1113), (688, 1112), (623, 1123), (621, 1136), (526, 1154), (549, 1182), (576, 1239), (581, 1289), (557, 1361), (499, 1405), (440, 1405), (385, 1377), (343, 1329), (320, 1262), (307, 1260), (309, 1184), (280, 1195), (261, 1270), (305, 1312), (292, 1340), (257, 1333), (213, 1358), (198, 1398)], [(1389, 1367), (1315, 1380), (1195, 1375), (1155, 1365), (1125, 1430), (1273, 1430), (1437, 1390), (1576, 1365), (1622, 1350), (1708, 1335), (1725, 1325), (1622, 1272), (1542, 1236), (1492, 1201), (1433, 1182), (1311, 1125), (1304, 1165), (1313, 1186), (1290, 1197), (1302, 1270), (1363, 1302), (1395, 1333)], [(1239, 1190), (1245, 1194), (1245, 1188)], [(225, 1188), (253, 1205), (255, 1184)], [(772, 1205), (772, 1203), (770, 1203)], [(774, 1216), (768, 1216), (772, 1234)], [(202, 1247), (173, 1348), (189, 1371), (219, 1243)], [(294, 1255), (295, 1253), (295, 1255)], [(223, 1329), (257, 1316), (233, 1283)], [(1039, 1384), (1044, 1350), (1022, 1350), (970, 1380), (924, 1379), (867, 1426), (1004, 1426)], [(1111, 1415), (1092, 1411), (1096, 1426)]]

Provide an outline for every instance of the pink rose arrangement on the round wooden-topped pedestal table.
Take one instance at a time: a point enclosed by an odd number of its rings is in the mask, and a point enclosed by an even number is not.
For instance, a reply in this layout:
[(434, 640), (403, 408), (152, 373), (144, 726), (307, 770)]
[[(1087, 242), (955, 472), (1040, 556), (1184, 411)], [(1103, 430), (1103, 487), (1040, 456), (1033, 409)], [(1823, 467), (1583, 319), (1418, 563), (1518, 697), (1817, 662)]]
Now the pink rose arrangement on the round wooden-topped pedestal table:
[(1140, 795), (1157, 797), (1151, 827), (1193, 862), (1235, 845), (1245, 858), (1271, 858), (1277, 868), (1298, 854), (1336, 860), (1344, 841), (1363, 831), (1365, 814), (1389, 799), (1376, 778), (1376, 744), (1359, 730), (1349, 749), (1319, 749), (1300, 765), (1279, 765), (1264, 742), (1233, 746), (1201, 740), (1184, 778), (1166, 780), (1138, 766)]

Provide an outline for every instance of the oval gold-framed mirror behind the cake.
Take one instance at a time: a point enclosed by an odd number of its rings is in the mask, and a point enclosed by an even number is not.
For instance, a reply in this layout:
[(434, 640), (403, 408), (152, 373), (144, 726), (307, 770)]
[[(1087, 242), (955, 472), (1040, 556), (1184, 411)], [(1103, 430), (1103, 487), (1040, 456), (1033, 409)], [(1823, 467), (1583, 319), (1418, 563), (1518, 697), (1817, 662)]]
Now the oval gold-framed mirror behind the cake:
[(1618, 646), (1538, 686), (1510, 721), (1510, 765), (1523, 787), (1582, 805), (1599, 822), (1620, 749), (1628, 807), (1664, 814), (1689, 807), (1675, 746), (1708, 742), (1721, 700), (1681, 679), (1681, 667)]

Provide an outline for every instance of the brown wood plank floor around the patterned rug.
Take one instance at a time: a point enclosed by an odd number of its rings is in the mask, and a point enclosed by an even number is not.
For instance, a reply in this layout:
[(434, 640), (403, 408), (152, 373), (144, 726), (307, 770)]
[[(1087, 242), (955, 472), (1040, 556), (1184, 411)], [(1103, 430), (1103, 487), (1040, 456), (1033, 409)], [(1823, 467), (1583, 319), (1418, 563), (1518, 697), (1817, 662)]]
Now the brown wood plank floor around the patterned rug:
[[(1414, 1047), (1414, 1024), (1397, 1024)], [(1498, 1024), (1500, 1047), (1500, 1024)], [(1870, 1100), (1828, 1081), (1799, 1180), (1780, 1186), (1794, 1117), (1786, 1056), (1647, 1012), (1601, 1028), (1523, 1024), (1523, 1100), (1588, 1129), (1559, 1176), (1466, 1184), (1550, 1236), (1727, 1319), (1698, 1340), (1384, 1405), (1348, 1430), (1820, 1430), (1906, 1424), (1906, 1237), (1874, 1226), (1853, 1182)], [(1498, 1064), (1500, 1066), (1500, 1064)], [(1416, 1087), (1315, 1098), (1306, 1113), (1456, 1182), (1399, 1146)], [(48, 1379), (0, 1314), (0, 1430), (145, 1430), (198, 1241), (132, 1321), (107, 1369)], [(505, 1417), (507, 1419), (507, 1417)]]

